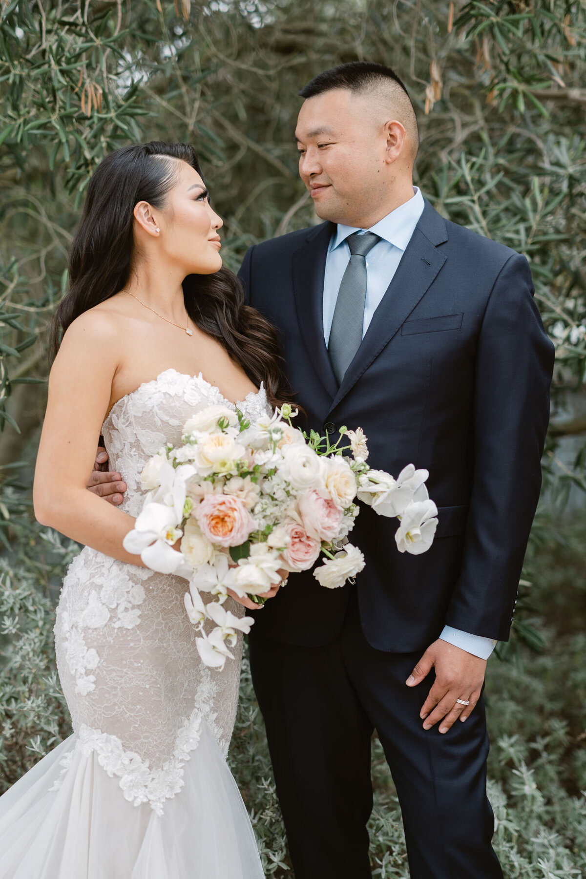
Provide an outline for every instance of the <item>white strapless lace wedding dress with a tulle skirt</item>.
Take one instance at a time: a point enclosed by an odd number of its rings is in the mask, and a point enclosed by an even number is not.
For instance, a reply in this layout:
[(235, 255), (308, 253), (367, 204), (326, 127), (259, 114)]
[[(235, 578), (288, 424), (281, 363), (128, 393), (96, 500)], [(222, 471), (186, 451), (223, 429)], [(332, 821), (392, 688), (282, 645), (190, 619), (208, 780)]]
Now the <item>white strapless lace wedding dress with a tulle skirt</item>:
[[(115, 404), (103, 433), (124, 510), (140, 512), (148, 457), (213, 403), (201, 375), (168, 369)], [(238, 406), (264, 414), (264, 390)], [(222, 672), (202, 665), (186, 585), (87, 547), (70, 565), (54, 632), (74, 734), (0, 797), (0, 879), (264, 876), (225, 759), (242, 636)]]

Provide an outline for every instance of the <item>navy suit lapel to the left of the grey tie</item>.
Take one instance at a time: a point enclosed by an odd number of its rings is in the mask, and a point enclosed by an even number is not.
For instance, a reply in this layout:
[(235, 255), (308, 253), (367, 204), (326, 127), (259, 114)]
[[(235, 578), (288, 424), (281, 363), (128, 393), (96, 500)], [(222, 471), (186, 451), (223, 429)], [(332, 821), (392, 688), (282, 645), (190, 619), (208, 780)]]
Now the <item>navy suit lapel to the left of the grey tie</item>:
[(322, 223), (307, 236), (299, 251), (293, 253), (293, 289), (301, 336), (324, 388), (336, 396), (337, 381), (329, 362), (323, 338), (323, 278), (328, 255), (331, 226)]

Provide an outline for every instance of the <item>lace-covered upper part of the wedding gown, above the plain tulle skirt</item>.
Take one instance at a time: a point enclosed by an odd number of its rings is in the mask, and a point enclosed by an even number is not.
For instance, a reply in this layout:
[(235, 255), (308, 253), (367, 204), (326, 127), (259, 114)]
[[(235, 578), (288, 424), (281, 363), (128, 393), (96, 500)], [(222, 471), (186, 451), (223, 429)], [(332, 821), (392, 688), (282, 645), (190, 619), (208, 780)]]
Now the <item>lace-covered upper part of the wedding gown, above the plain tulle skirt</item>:
[[(201, 374), (175, 369), (115, 403), (103, 434), (110, 467), (127, 483), (126, 512), (141, 510), (148, 458), (164, 443), (178, 443), (187, 418), (216, 403), (235, 405)], [(236, 405), (254, 421), (268, 407), (264, 389)], [(69, 567), (55, 623), (76, 749), (95, 752), (128, 800), (148, 802), (157, 812), (182, 787), (184, 761), (198, 745), (202, 723), (228, 751), (238, 698), (242, 640), (223, 671), (203, 665), (184, 610), (186, 586), (183, 578), (86, 547)], [(232, 599), (228, 607), (242, 616)]]

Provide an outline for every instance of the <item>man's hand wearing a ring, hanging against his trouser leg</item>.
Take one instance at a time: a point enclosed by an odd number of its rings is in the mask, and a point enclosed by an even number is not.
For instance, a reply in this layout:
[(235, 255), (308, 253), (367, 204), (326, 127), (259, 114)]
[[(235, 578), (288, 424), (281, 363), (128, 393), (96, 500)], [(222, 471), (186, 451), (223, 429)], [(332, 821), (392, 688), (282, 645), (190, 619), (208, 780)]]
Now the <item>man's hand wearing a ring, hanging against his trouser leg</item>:
[[(436, 679), (419, 714), (423, 729), (430, 730), (441, 721), (439, 731), (444, 733), (458, 718), (465, 721), (481, 697), (486, 667), (486, 659), (439, 638), (434, 641), (407, 679), (407, 686), (417, 686), (432, 668), (436, 670)], [(462, 705), (458, 699), (470, 704)]]

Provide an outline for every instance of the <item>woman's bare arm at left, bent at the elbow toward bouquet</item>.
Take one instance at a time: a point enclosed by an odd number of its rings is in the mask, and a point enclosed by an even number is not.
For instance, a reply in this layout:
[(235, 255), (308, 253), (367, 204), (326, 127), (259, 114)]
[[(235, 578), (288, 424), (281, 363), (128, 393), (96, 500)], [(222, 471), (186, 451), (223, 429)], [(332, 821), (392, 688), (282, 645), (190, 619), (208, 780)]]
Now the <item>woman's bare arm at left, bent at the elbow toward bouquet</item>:
[[(119, 328), (101, 312), (83, 314), (65, 333), (49, 376), (34, 474), (34, 513), (41, 525), (106, 556), (144, 567), (140, 556), (122, 547), (134, 518), (86, 489), (123, 350)], [(65, 479), (55, 461), (62, 461)]]

